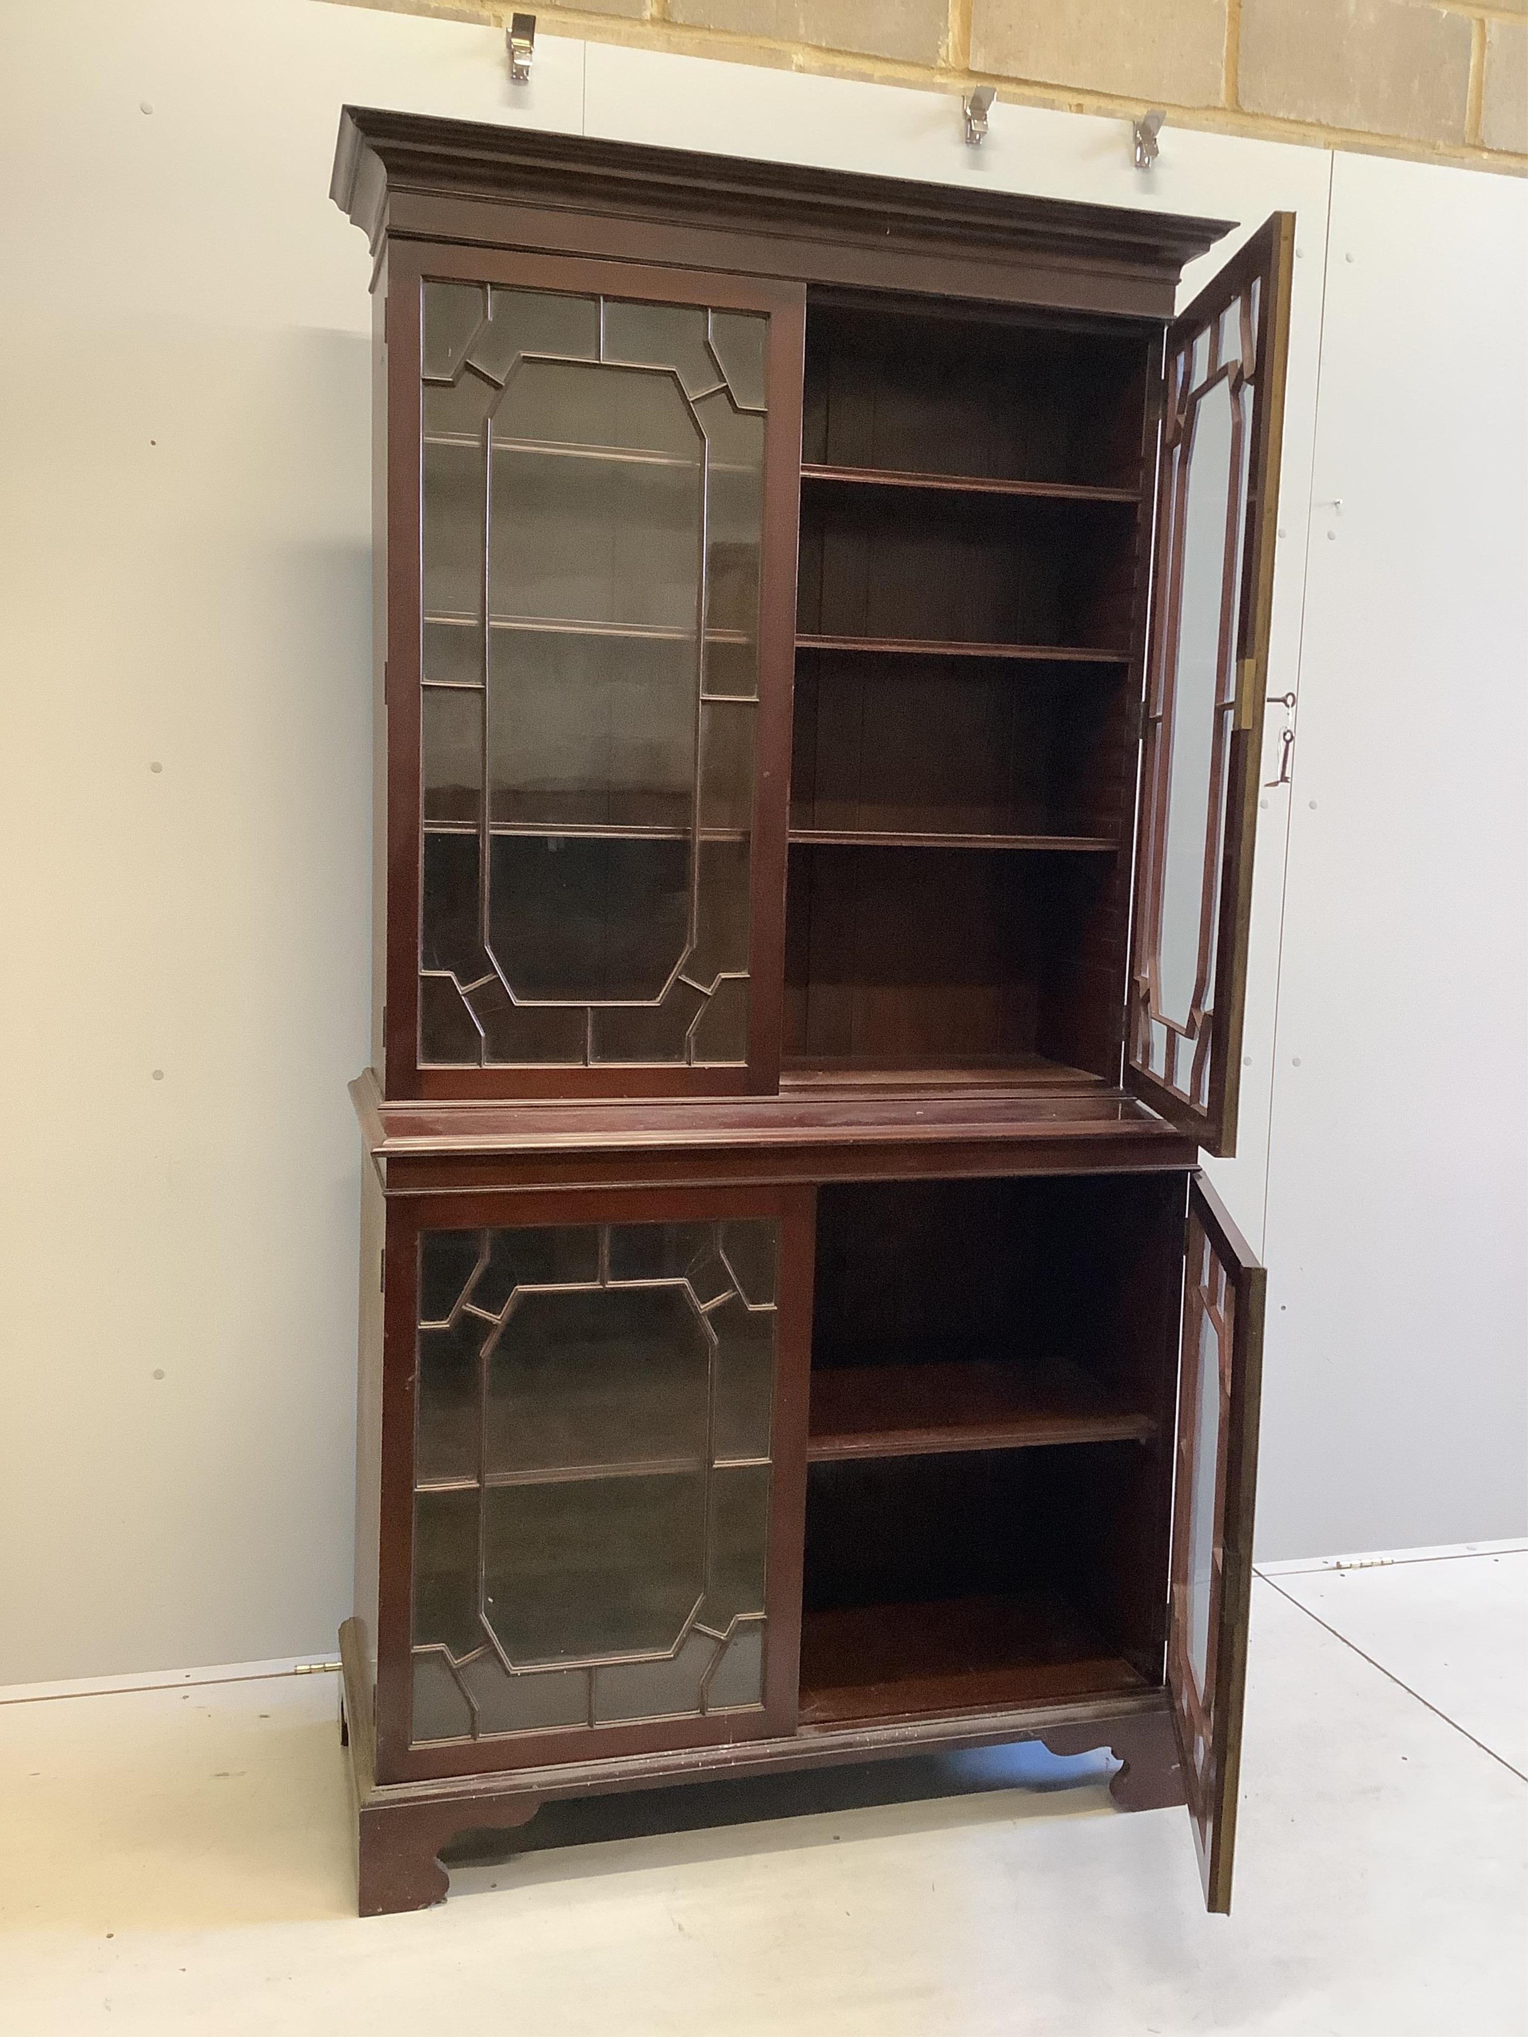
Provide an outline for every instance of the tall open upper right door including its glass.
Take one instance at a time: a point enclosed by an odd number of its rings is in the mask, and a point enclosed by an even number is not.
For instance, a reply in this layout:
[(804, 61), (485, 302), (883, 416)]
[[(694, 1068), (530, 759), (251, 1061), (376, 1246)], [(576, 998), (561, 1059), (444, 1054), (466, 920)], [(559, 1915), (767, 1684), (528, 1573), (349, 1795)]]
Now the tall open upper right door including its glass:
[(1167, 330), (1127, 1086), (1237, 1149), (1294, 214)]

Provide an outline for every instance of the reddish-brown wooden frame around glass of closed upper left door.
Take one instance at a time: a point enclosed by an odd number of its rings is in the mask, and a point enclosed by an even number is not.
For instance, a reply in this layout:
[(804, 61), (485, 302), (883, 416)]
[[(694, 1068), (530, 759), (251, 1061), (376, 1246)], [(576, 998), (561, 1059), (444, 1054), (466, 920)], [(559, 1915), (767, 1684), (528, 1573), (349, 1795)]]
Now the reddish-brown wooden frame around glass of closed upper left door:
[[(760, 312), (770, 320), (758, 613), (758, 735), (750, 868), (750, 1010), (744, 1065), (422, 1065), (422, 332), (424, 283), (481, 283), (652, 304)], [(471, 249), (389, 236), (379, 271), (385, 306), (385, 601), (387, 925), (383, 1092), (389, 1098), (738, 1096), (780, 1082), (784, 1004), (784, 868), (790, 784), (790, 689), (797, 631), (797, 515), (807, 291), (801, 283), (695, 269)]]

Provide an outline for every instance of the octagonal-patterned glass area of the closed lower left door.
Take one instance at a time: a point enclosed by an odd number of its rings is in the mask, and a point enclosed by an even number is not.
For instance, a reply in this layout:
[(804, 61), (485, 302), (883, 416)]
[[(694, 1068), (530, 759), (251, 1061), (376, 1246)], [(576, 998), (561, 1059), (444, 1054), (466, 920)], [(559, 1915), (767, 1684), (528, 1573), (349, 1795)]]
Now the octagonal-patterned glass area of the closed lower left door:
[(778, 1224), (420, 1241), (416, 1744), (764, 1701)]

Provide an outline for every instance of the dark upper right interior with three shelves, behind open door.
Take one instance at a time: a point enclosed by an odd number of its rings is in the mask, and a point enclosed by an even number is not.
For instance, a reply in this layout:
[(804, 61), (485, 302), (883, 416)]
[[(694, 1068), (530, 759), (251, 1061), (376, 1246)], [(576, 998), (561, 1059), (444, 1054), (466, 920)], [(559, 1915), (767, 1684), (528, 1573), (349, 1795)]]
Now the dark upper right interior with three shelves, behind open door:
[(788, 1086), (1116, 1080), (1149, 377), (1129, 330), (809, 304)]

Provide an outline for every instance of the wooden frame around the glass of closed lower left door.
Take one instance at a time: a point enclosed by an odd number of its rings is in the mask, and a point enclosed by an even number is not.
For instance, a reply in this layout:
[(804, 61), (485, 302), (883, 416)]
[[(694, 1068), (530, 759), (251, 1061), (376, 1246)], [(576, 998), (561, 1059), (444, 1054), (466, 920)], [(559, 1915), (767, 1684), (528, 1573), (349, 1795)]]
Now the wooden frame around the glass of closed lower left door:
[[(770, 1507), (764, 1573), (764, 1703), (715, 1717), (548, 1727), (412, 1746), (414, 1432), (418, 1269), (424, 1230), (536, 1224), (662, 1224), (729, 1218), (780, 1224)], [(483, 1190), (387, 1198), (381, 1412), (381, 1552), (377, 1593), (377, 1778), (430, 1780), (558, 1762), (662, 1754), (797, 1729), (801, 1579), (807, 1513), (807, 1412), (817, 1196), (778, 1188)]]

